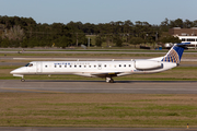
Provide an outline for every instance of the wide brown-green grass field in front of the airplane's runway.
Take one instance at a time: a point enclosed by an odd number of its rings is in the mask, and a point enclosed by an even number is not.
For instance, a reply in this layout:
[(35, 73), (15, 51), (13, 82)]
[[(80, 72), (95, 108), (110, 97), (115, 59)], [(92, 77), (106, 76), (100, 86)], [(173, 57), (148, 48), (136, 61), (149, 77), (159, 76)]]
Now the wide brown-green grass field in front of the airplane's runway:
[(197, 128), (197, 95), (0, 93), (1, 127)]

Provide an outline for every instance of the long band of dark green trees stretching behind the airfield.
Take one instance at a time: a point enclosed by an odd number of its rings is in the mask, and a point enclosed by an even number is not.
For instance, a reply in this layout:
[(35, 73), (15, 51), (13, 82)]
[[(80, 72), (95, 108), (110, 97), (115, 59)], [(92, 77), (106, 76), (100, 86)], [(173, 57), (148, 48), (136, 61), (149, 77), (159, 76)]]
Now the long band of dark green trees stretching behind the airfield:
[[(165, 32), (172, 27), (197, 27), (197, 21), (165, 19), (160, 25), (148, 22), (118, 21), (109, 23), (81, 23), (68, 24), (36, 23), (32, 17), (0, 16), (0, 47), (68, 47), (88, 45), (85, 35), (96, 35), (95, 45), (107, 46), (116, 44), (159, 43), (162, 40), (176, 41), (177, 38), (167, 36)], [(174, 40), (175, 39), (175, 40)]]

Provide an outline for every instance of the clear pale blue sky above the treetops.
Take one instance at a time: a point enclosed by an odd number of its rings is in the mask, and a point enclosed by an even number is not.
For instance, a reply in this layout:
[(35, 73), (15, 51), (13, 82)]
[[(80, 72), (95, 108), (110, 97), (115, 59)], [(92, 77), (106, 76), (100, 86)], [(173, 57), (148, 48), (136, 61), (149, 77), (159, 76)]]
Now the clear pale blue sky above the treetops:
[(197, 20), (197, 0), (0, 0), (0, 15), (32, 17), (36, 23), (148, 22)]

